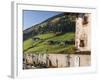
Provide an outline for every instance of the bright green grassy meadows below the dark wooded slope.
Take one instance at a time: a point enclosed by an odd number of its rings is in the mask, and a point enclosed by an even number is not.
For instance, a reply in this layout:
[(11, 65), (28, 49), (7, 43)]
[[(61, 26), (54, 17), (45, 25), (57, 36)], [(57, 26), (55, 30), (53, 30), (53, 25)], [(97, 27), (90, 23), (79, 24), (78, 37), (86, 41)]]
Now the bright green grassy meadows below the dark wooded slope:
[(47, 34), (40, 34), (35, 37), (39, 37), (40, 39), (43, 39), (43, 41), (36, 41), (33, 42), (32, 39), (28, 39), (24, 41), (24, 50), (26, 53), (33, 52), (33, 53), (74, 53), (74, 44), (71, 45), (60, 45), (60, 44), (54, 44), (49, 45), (47, 44), (48, 40), (52, 41), (70, 41), (72, 39), (75, 39), (75, 33), (66, 33), (59, 36), (55, 36), (54, 33), (47, 33)]

